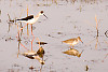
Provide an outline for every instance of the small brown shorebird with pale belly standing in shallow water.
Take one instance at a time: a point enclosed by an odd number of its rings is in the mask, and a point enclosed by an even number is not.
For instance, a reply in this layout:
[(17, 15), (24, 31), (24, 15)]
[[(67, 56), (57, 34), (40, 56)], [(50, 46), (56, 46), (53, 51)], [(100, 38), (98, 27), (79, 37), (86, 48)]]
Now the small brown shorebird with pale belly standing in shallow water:
[(69, 39), (69, 40), (65, 40), (65, 41), (62, 41), (62, 42), (69, 44), (70, 45), (70, 48), (71, 48), (71, 46), (73, 48), (73, 45), (76, 45), (77, 43), (79, 43), (79, 41), (81, 41), (81, 38), (80, 37), (73, 38), (73, 39)]

